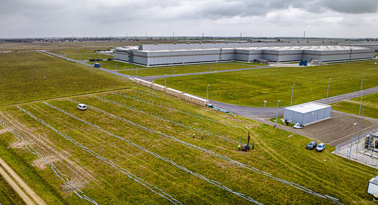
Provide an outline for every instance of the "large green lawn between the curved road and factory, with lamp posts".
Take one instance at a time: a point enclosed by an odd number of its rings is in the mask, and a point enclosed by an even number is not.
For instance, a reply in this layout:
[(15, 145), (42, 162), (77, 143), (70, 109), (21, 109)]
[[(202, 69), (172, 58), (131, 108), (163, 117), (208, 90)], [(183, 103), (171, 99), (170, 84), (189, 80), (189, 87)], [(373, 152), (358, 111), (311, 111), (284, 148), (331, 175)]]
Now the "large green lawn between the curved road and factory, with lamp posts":
[[(378, 85), (378, 65), (374, 61), (345, 63), (327, 66), (301, 68), (265, 68), (247, 71), (191, 75), (167, 78), (167, 86), (206, 97), (209, 99), (241, 106), (267, 107), (289, 106), (292, 84), (293, 105), (326, 98), (328, 79), (329, 96), (353, 92), (360, 89), (362, 73), (363, 89)], [(138, 73), (139, 75), (139, 73)], [(164, 79), (154, 81), (163, 84)]]

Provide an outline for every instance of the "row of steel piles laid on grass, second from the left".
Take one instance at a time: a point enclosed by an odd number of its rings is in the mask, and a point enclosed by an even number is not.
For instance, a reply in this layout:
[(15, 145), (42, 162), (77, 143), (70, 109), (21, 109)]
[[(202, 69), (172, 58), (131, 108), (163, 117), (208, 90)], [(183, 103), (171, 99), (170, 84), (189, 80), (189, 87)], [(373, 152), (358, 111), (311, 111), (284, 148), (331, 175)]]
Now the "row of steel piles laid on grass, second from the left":
[[(47, 104), (47, 102), (43, 102), (43, 103), (44, 103), (45, 105), (49, 105), (49, 104)], [(49, 105), (49, 106), (51, 106), (51, 105)], [(145, 180), (143, 180), (143, 179), (141, 179), (141, 178), (135, 176), (134, 174), (130, 173), (128, 170), (126, 170), (126, 169), (120, 167), (119, 165), (113, 163), (110, 159), (107, 159), (107, 158), (105, 158), (105, 157), (102, 157), (100, 154), (98, 154), (97, 152), (93, 151), (92, 149), (89, 149), (88, 147), (86, 147), (86, 146), (84, 146), (84, 145), (78, 143), (74, 138), (72, 138), (72, 137), (70, 137), (70, 136), (68, 136), (68, 135), (66, 135), (66, 134), (64, 134), (64, 133), (62, 133), (62, 132), (56, 130), (55, 128), (53, 128), (53, 127), (51, 127), (49, 124), (43, 122), (43, 120), (38, 119), (37, 117), (35, 117), (33, 114), (29, 113), (28, 111), (22, 109), (22, 108), (19, 107), (19, 106), (17, 106), (17, 108), (18, 108), (19, 110), (23, 111), (24, 113), (28, 114), (28, 115), (29, 115), (31, 118), (33, 118), (34, 120), (36, 120), (36, 121), (42, 123), (43, 125), (49, 127), (51, 130), (53, 130), (54, 132), (56, 132), (56, 133), (59, 134), (60, 136), (64, 137), (66, 140), (72, 142), (73, 144), (75, 144), (75, 145), (78, 146), (78, 147), (83, 148), (84, 151), (86, 151), (86, 152), (88, 152), (89, 154), (93, 155), (93, 156), (96, 157), (97, 159), (99, 159), (99, 160), (101, 160), (101, 161), (103, 161), (103, 162), (105, 162), (105, 163), (111, 165), (112, 167), (114, 167), (114, 168), (117, 169), (118, 171), (120, 171), (120, 172), (122, 172), (123, 174), (127, 175), (129, 178), (131, 178), (131, 179), (133, 179), (134, 181), (140, 183), (141, 185), (147, 187), (147, 188), (150, 189), (152, 192), (154, 192), (154, 193), (156, 193), (156, 194), (158, 194), (158, 195), (164, 197), (165, 199), (169, 200), (169, 201), (170, 201), (171, 203), (173, 203), (173, 204), (176, 204), (176, 205), (177, 205), (177, 204), (182, 204), (180, 201), (174, 199), (171, 195), (165, 193), (164, 191), (162, 191), (162, 190), (159, 189), (158, 187), (156, 187), (156, 186), (154, 186), (154, 185), (148, 183), (147, 181), (145, 181)], [(67, 180), (68, 180), (68, 179), (67, 179)], [(66, 185), (67, 185), (67, 184), (66, 184)], [(71, 185), (72, 185), (72, 184), (71, 184)], [(78, 190), (79, 190), (79, 189), (78, 189)], [(80, 190), (79, 190), (79, 191), (80, 191)], [(80, 192), (81, 192), (81, 191), (80, 191)], [(75, 191), (75, 193), (76, 193), (79, 197), (81, 197), (81, 196), (78, 194), (78, 192)], [(167, 196), (168, 196), (169, 198), (168, 198)], [(82, 198), (82, 197), (81, 197), (81, 198)], [(83, 197), (83, 198), (84, 198), (84, 197)], [(85, 199), (87, 199), (87, 198), (85, 198)], [(87, 200), (88, 200), (88, 199), (87, 199)], [(91, 201), (91, 202), (97, 204), (94, 200)]]

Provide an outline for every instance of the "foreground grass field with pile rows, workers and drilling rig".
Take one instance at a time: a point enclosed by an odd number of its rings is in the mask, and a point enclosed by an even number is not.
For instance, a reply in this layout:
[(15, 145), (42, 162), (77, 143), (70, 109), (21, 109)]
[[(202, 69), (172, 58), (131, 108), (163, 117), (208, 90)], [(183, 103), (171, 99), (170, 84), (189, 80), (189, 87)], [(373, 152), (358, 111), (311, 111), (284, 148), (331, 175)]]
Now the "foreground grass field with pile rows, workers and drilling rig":
[[(163, 118), (172, 118), (173, 121), (176, 122), (179, 120), (180, 124), (191, 124), (191, 127), (198, 126), (200, 130), (202, 128), (203, 130), (211, 129), (212, 133), (217, 134), (219, 132), (219, 135), (225, 135), (228, 139), (234, 137), (235, 140), (238, 140), (241, 138), (244, 143), (246, 142), (246, 136), (249, 132), (251, 143), (255, 143), (256, 149), (250, 152), (238, 151), (236, 143), (226, 142), (219, 137), (209, 136), (207, 134), (205, 134), (204, 140), (200, 140), (199, 136), (201, 133), (198, 131), (195, 131), (196, 138), (193, 139), (191, 137), (193, 131), (190, 129), (171, 122), (159, 120), (156, 117), (151, 117), (142, 112), (131, 111), (129, 108), (121, 108), (93, 97), (76, 96), (73, 97), (73, 99), (123, 119), (127, 119), (133, 123), (146, 126), (149, 129), (157, 130), (179, 140), (256, 167), (275, 177), (303, 185), (321, 194), (334, 196), (339, 198), (344, 204), (351, 204), (353, 200), (370, 200), (370, 195), (366, 193), (365, 189), (369, 178), (376, 175), (375, 169), (355, 162), (348, 162), (344, 158), (331, 154), (330, 152), (334, 150), (331, 146), (323, 153), (309, 151), (304, 148), (308, 143), (308, 139), (305, 137), (294, 135), (288, 138), (287, 136), (291, 135), (289, 132), (274, 130), (271, 126), (262, 125), (239, 117), (231, 117), (212, 109), (188, 105), (181, 100), (163, 96), (161, 92), (156, 92), (160, 97), (152, 97), (150, 95), (131, 92), (130, 90), (121, 91), (121, 93), (122, 95), (128, 94), (145, 100), (148, 99), (149, 102), (154, 102), (154, 106), (111, 93), (103, 93), (100, 95), (100, 98), (116, 101), (122, 105), (130, 106), (131, 108), (143, 109), (144, 112), (152, 112), (153, 115), (160, 116), (162, 114)], [(225, 122), (227, 120), (228, 124), (235, 125), (238, 128), (213, 123), (206, 120), (206, 118), (202, 120), (187, 114), (162, 109), (156, 106), (156, 103), (159, 104), (160, 102), (162, 105), (167, 105), (168, 108), (175, 107), (177, 109), (185, 109), (186, 112), (191, 112), (192, 114), (197, 113), (199, 116), (202, 116), (202, 114), (209, 118), (215, 116), (216, 121)], [(78, 111), (76, 104), (71, 101), (54, 99), (48, 100), (48, 103), (93, 123), (112, 134), (132, 140), (137, 145), (141, 145), (162, 157), (172, 159), (175, 163), (186, 167), (188, 170), (221, 182), (224, 186), (237, 192), (247, 194), (251, 198), (264, 204), (331, 203), (328, 199), (313, 196), (299, 189), (279, 183), (269, 177), (232, 165), (218, 157), (212, 157), (202, 151), (183, 146), (181, 143), (169, 138), (164, 138), (130, 126), (93, 109), (88, 109), (85, 112)], [(231, 194), (201, 178), (182, 171), (171, 163), (159, 160), (137, 147), (111, 137), (94, 127), (86, 125), (56, 109), (42, 104), (42, 102), (23, 104), (22, 108), (50, 124), (58, 131), (73, 137), (89, 149), (100, 153), (103, 157), (111, 159), (137, 177), (164, 190), (184, 204), (234, 204), (247, 202), (237, 195)], [(124, 204), (141, 203), (142, 201), (142, 203), (147, 202), (151, 204), (169, 203), (168, 200), (154, 194), (146, 189), (146, 187), (121, 174), (113, 167), (94, 158), (83, 149), (69, 143), (51, 129), (33, 120), (14, 106), (2, 107), (0, 108), (0, 112), (3, 115), (0, 117), (2, 121), (8, 119), (8, 122), (11, 122), (8, 124), (18, 125), (17, 131), (25, 135), (26, 141), (30, 140), (31, 136), (25, 132), (25, 130), (28, 127), (32, 127), (33, 131), (29, 131), (29, 133), (31, 132), (33, 135), (40, 136), (41, 142), (49, 141), (49, 146), (54, 147), (59, 153), (69, 153), (70, 160), (76, 164), (75, 166), (86, 170), (87, 173), (92, 173), (85, 175), (84, 178), (88, 177), (91, 178), (91, 180), (88, 180), (90, 182), (85, 183), (81, 190), (87, 196), (94, 198), (97, 203), (108, 204), (111, 202)], [(7, 122), (7, 120), (5, 121)], [(11, 138), (12, 135), (9, 133), (6, 134), (2, 146), (8, 146), (8, 144), (12, 142)], [(40, 141), (35, 141), (33, 146), (42, 155), (48, 154), (49, 152), (47, 150), (44, 151), (44, 149), (42, 149), (43, 144), (40, 144)], [(287, 146), (290, 146), (290, 149), (287, 149)], [(8, 150), (9, 152), (12, 151), (19, 154), (21, 161), (28, 162), (29, 164), (37, 159), (35, 156), (30, 156), (28, 153), (24, 155), (21, 154), (25, 153), (23, 148), (11, 148)], [(62, 152), (63, 150), (65, 152)], [(70, 170), (69, 167), (73, 165), (69, 165), (64, 160), (54, 162), (54, 164), (70, 179), (82, 174)], [(316, 166), (314, 166), (314, 164), (316, 164)], [(19, 171), (22, 172), (23, 170), (21, 169)], [(47, 168), (44, 170), (36, 169), (36, 172), (40, 178), (48, 184), (48, 187), (52, 187), (53, 190), (57, 191), (57, 193), (50, 196), (49, 202), (58, 200), (61, 196), (65, 196), (65, 204), (85, 203), (83, 199), (80, 200), (75, 194), (68, 195), (64, 191), (61, 191), (58, 180), (56, 177), (54, 178), (54, 175), (48, 174), (49, 170)], [(25, 177), (29, 175), (28, 173), (29, 172), (25, 171)], [(353, 177), (344, 177), (348, 175), (353, 175)], [(30, 182), (33, 182), (33, 180), (30, 180)], [(43, 191), (38, 191), (38, 193), (41, 192)]]

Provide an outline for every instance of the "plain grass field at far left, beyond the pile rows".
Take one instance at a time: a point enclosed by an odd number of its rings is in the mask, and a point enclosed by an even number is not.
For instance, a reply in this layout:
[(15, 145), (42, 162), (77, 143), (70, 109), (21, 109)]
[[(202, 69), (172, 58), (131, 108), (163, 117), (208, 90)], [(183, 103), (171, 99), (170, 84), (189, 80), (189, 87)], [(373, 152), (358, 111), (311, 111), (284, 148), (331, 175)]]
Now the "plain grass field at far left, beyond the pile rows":
[(126, 87), (125, 79), (38, 52), (0, 54), (0, 105)]

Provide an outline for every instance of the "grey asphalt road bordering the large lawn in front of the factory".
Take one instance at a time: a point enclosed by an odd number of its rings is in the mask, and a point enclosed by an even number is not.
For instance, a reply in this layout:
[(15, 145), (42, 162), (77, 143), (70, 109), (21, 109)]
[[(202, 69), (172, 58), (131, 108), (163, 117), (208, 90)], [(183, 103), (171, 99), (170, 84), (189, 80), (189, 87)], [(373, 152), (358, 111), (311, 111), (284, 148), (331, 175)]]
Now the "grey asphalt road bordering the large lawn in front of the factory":
[[(85, 63), (83, 61), (72, 60), (72, 59), (67, 58), (65, 56), (55, 54), (55, 53), (50, 53), (50, 52), (45, 51), (45, 50), (40, 50), (40, 51), (47, 53), (49, 55), (57, 56), (57, 57), (60, 57), (62, 59), (66, 59), (66, 60), (69, 60), (69, 61), (72, 61), (72, 62), (80, 63), (82, 65), (89, 66), (89, 67), (93, 68), (92, 65)], [(352, 62), (346, 62), (346, 63), (352, 63)], [(230, 71), (238, 71), (238, 70), (262, 69), (262, 68), (270, 68), (270, 67), (272, 67), (272, 66), (259, 66), (259, 67), (253, 67), (253, 68), (244, 68), (244, 69), (241, 68), (241, 69), (234, 69), (234, 70), (220, 70), (220, 71), (208, 71), (208, 72), (197, 72), (197, 73), (184, 73), (184, 74), (176, 74), (176, 75), (159, 75), (159, 76), (143, 76), (143, 77), (140, 76), (138, 78), (153, 81), (155, 79), (159, 79), (159, 78), (163, 78), (163, 77), (198, 75), (198, 74), (230, 72)], [(96, 69), (99, 69), (99, 70), (102, 70), (104, 72), (108, 72), (108, 73), (111, 73), (111, 74), (114, 74), (114, 75), (117, 75), (117, 76), (120, 76), (120, 77), (124, 77), (124, 78), (134, 77), (132, 75), (125, 75), (125, 74), (118, 73), (118, 72), (115, 72), (115, 71), (112, 71), (112, 70), (107, 70), (107, 69), (104, 69), (104, 68), (96, 68)], [(371, 94), (371, 93), (375, 93), (375, 92), (378, 92), (378, 87), (373, 87), (373, 88), (364, 89), (362, 91), (355, 91), (355, 92), (351, 92), (351, 93), (347, 93), (347, 94), (328, 97), (328, 98), (325, 98), (325, 99), (319, 99), (319, 100), (316, 100), (316, 102), (320, 102), (320, 103), (323, 103), (323, 104), (332, 104), (332, 103), (342, 101), (342, 100), (345, 100), (345, 99), (359, 97), (361, 95)], [(245, 107), (245, 106), (237, 106), (237, 105), (226, 104), (224, 102), (218, 102), (218, 101), (214, 101), (214, 100), (209, 100), (209, 101), (210, 101), (210, 104), (213, 104), (214, 106), (216, 106), (218, 108), (228, 110), (231, 113), (234, 113), (234, 114), (237, 114), (237, 115), (240, 115), (240, 116), (243, 116), (243, 117), (247, 117), (247, 118), (272, 118), (272, 117), (275, 117), (276, 114), (277, 114), (277, 108)], [(286, 107), (278, 108), (278, 115), (283, 115), (284, 108), (286, 108)]]

